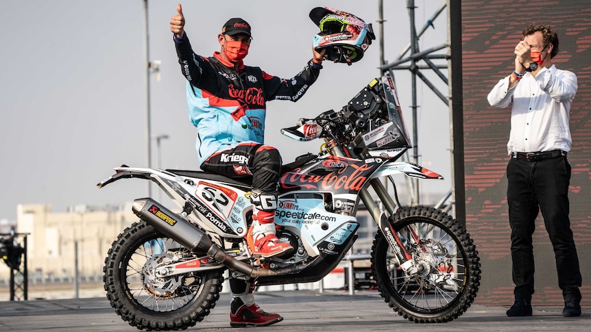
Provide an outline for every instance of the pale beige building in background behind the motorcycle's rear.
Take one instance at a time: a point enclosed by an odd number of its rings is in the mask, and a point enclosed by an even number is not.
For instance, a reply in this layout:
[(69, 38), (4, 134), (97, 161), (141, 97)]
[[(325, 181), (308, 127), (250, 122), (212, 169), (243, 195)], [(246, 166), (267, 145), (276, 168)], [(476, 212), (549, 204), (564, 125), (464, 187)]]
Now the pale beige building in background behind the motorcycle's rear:
[[(78, 275), (100, 279), (104, 260), (117, 235), (138, 218), (131, 203), (93, 207), (76, 205), (53, 213), (51, 205), (18, 205), (16, 232), (27, 235), (29, 280), (71, 281)], [(8, 266), (0, 267), (0, 279), (10, 278)]]

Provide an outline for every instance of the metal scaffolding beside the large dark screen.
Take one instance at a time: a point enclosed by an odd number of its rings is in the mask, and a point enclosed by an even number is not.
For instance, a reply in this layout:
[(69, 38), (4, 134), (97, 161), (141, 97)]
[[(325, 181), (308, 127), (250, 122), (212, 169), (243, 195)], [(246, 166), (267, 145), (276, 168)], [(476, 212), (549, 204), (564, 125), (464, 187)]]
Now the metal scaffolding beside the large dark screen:
[[(410, 39), (411, 41), (407, 46), (402, 49), (400, 55), (396, 57), (394, 61), (385, 62), (384, 60), (384, 29), (383, 29), (383, 0), (378, 3), (379, 18), (378, 18), (378, 29), (380, 31), (380, 70), (381, 75), (389, 75), (394, 78), (394, 71), (409, 71), (411, 73), (411, 109), (412, 109), (412, 125), (413, 125), (413, 151), (412, 151), (412, 162), (418, 164), (419, 151), (418, 151), (418, 120), (417, 120), (417, 85), (420, 79), (425, 86), (437, 96), (442, 103), (445, 103), (450, 110), (450, 136), (452, 137), (451, 153), (453, 154), (452, 159), (452, 171), (453, 171), (453, 184), (452, 188), (444, 195), (441, 201), (437, 203), (438, 208), (445, 209), (446, 211), (451, 210), (451, 214), (459, 220), (464, 220), (465, 207), (463, 199), (463, 138), (461, 136), (461, 31), (459, 30), (459, 23), (461, 22), (461, 3), (459, 0), (446, 0), (439, 6), (433, 13), (433, 15), (424, 23), (424, 25), (417, 31), (416, 29), (416, 18), (415, 18), (415, 1), (407, 0), (407, 10), (409, 12), (409, 23), (410, 23)], [(433, 28), (435, 20), (446, 10), (447, 8), (447, 40), (441, 44), (437, 44), (433, 47), (421, 50), (419, 47), (419, 40), (422, 35)], [(457, 41), (457, 42), (453, 42)], [(445, 53), (441, 53), (444, 51)], [(458, 55), (458, 56), (453, 56)], [(436, 64), (437, 60), (446, 60), (446, 63)], [(452, 62), (454, 60), (454, 63)], [(442, 69), (448, 69), (450, 77), (442, 71)], [(448, 94), (437, 89), (433, 81), (424, 75), (424, 71), (432, 71), (435, 75), (441, 79), (446, 86), (448, 86)], [(458, 75), (459, 73), (459, 75)], [(454, 81), (457, 86), (452, 85)], [(458, 89), (459, 88), (459, 89)], [(454, 96), (455, 98), (452, 98)], [(411, 159), (407, 151), (405, 156), (407, 161)], [(418, 186), (418, 179), (407, 179), (407, 186), (409, 187), (409, 205), (420, 204), (420, 190)], [(459, 190), (455, 190), (459, 188)], [(450, 201), (449, 203), (446, 203)], [(458, 203), (460, 202), (460, 203)], [(463, 222), (463, 221), (462, 221)]]

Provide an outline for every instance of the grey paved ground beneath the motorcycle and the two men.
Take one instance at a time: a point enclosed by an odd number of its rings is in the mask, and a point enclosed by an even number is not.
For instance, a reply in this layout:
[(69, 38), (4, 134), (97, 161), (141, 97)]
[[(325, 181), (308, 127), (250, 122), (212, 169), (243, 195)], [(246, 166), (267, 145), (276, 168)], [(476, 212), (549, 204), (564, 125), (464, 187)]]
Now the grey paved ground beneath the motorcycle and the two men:
[[(532, 317), (509, 318), (507, 307), (472, 305), (452, 322), (417, 324), (392, 311), (376, 291), (290, 290), (257, 292), (265, 311), (282, 322), (247, 331), (591, 331), (591, 307), (583, 315), (562, 317), (562, 307), (534, 307)], [(121, 320), (105, 297), (0, 302), (0, 331), (138, 331)], [(229, 324), (230, 295), (222, 293), (209, 316), (186, 331), (234, 329)]]

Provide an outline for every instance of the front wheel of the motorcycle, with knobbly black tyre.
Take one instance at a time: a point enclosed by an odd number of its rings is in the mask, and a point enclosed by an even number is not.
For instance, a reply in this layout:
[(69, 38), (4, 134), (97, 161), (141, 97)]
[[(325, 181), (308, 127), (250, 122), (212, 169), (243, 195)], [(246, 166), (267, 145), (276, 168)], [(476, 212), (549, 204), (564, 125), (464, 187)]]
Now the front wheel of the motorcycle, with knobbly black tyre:
[(400, 209), (390, 222), (422, 272), (407, 275), (378, 231), (372, 273), (390, 307), (413, 322), (449, 322), (466, 312), (480, 285), (480, 259), (470, 235), (432, 207)]

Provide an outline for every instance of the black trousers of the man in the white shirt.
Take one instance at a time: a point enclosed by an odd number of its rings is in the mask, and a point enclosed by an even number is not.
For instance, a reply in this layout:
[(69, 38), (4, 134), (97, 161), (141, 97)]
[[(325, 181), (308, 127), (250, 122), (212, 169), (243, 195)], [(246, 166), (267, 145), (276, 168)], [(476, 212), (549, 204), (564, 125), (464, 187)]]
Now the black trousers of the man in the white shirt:
[(558, 286), (565, 298), (581, 298), (581, 272), (568, 218), (570, 164), (566, 156), (529, 162), (511, 158), (507, 165), (507, 203), (516, 298), (533, 294), (535, 218), (542, 211), (554, 248)]

